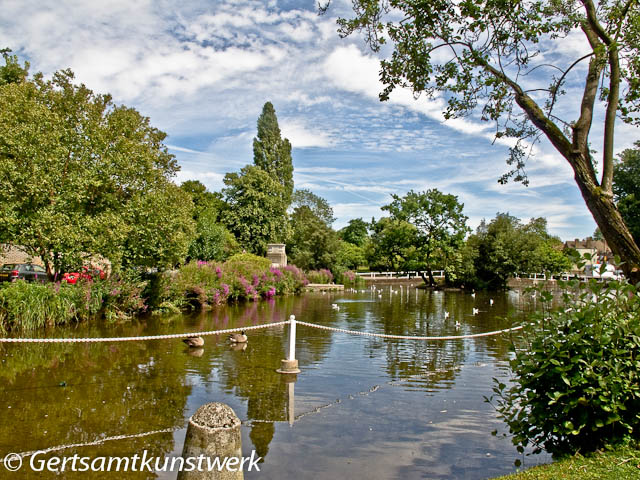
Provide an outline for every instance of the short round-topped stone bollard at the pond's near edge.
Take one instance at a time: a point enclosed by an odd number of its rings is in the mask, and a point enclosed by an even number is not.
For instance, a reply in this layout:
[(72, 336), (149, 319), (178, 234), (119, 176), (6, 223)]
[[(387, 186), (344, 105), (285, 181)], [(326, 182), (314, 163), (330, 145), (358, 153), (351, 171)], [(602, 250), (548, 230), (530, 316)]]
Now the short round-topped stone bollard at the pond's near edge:
[[(240, 434), (240, 420), (230, 406), (213, 402), (201, 406), (189, 419), (187, 436), (184, 440), (182, 458), (199, 457), (203, 455), (213, 461), (218, 457), (220, 462), (225, 458), (237, 458), (232, 469), (216, 469), (212, 471), (182, 471), (178, 480), (243, 480), (242, 437)], [(206, 465), (206, 458), (203, 462)], [(231, 464), (229, 464), (231, 465)]]

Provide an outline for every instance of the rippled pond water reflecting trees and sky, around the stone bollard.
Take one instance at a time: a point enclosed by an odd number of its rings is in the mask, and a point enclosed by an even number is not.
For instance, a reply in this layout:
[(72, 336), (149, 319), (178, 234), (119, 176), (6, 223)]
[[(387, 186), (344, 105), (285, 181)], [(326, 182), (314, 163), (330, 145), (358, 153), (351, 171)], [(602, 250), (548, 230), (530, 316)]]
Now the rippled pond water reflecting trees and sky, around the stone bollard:
[[(370, 290), (307, 293), (193, 315), (56, 328), (46, 335), (179, 333), (276, 322), (291, 314), (374, 333), (456, 335), (509, 327), (532, 301), (518, 292), (479, 292), (473, 298), (407, 287), (391, 293), (387, 286), (382, 298)], [(180, 456), (189, 417), (202, 404), (219, 401), (243, 422), (244, 455), (255, 450), (263, 458), (260, 472), (245, 472), (245, 478), (485, 479), (515, 471), (517, 459), (524, 466), (549, 461), (545, 455), (519, 455), (483, 399), (491, 394), (493, 377), (508, 378), (506, 335), (425, 342), (298, 326), (302, 372), (291, 386), (275, 371), (284, 358), (287, 329), (251, 331), (244, 349), (217, 336), (206, 337), (200, 350), (179, 340), (0, 344), (0, 458), (65, 445), (76, 446), (50, 455), (95, 458), (147, 450), (162, 458)], [(46, 475), (24, 467), (11, 478)]]

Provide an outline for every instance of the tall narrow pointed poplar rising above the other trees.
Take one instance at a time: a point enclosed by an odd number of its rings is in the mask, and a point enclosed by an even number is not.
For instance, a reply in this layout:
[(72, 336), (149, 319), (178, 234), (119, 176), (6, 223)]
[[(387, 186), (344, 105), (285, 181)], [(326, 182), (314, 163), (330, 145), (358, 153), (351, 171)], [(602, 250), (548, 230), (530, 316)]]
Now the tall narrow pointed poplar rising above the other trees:
[(293, 194), (291, 143), (280, 135), (278, 118), (271, 102), (264, 104), (258, 117), (258, 136), (253, 139), (253, 163), (282, 186), (281, 198), (286, 210)]

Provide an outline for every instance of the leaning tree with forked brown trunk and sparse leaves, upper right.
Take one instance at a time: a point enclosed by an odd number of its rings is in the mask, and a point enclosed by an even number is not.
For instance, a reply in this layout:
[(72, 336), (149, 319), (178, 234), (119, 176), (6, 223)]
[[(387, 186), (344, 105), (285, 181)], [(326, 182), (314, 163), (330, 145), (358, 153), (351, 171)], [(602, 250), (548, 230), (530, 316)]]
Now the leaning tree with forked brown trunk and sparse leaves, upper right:
[[(640, 124), (638, 2), (354, 0), (353, 8), (355, 18), (339, 20), (341, 35), (364, 31), (374, 51), (392, 43), (390, 58), (381, 63), (381, 100), (397, 87), (409, 87), (415, 95), (442, 94), (445, 118), (479, 109), (482, 120), (496, 123), (496, 138), (512, 143), (511, 170), (501, 182), (527, 183), (527, 152), (545, 136), (573, 169), (587, 208), (626, 262), (625, 274), (640, 281), (640, 249), (613, 198), (616, 115)], [(571, 58), (555, 48), (569, 34), (583, 35), (586, 55)], [(588, 63), (580, 71), (582, 62)], [(564, 109), (578, 115), (562, 118), (556, 107), (568, 80), (578, 75), (582, 97)], [(604, 117), (599, 159), (590, 145), (597, 100)]]

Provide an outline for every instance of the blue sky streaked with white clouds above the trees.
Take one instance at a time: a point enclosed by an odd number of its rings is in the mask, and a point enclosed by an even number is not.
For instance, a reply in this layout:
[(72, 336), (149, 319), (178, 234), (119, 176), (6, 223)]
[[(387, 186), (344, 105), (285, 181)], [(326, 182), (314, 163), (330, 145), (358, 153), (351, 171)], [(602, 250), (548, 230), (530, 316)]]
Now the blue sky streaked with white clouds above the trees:
[[(71, 68), (78, 82), (150, 117), (168, 134), (178, 183), (197, 179), (219, 191), (225, 173), (251, 163), (256, 121), (270, 101), (293, 145), (296, 188), (329, 201), (335, 228), (379, 218), (392, 194), (438, 188), (464, 203), (472, 228), (509, 212), (523, 221), (546, 217), (564, 240), (593, 233), (571, 169), (548, 143), (527, 165), (528, 187), (498, 184), (509, 170), (508, 149), (493, 142), (493, 124), (444, 121), (441, 101), (407, 90), (380, 102), (379, 57), (362, 37), (337, 33), (336, 18), (350, 16), (350, 2), (334, 0), (323, 16), (316, 5), (0, 0), (0, 47), (28, 60), (32, 73)], [(544, 47), (546, 58), (560, 61), (576, 58), (585, 44), (570, 35)], [(569, 116), (582, 88), (580, 68), (558, 107)], [(616, 152), (639, 137), (620, 125)]]

